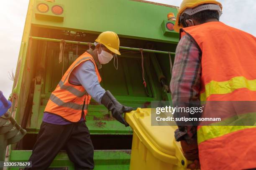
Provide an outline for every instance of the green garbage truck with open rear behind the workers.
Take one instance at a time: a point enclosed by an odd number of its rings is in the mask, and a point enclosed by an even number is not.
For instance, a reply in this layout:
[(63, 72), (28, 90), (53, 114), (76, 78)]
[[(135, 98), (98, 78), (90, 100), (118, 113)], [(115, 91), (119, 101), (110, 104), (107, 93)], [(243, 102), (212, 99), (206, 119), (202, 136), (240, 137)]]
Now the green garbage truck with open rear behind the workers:
[[(152, 101), (171, 101), (177, 11), (178, 7), (144, 0), (30, 0), (10, 95), (10, 113), (27, 134), (8, 146), (7, 160), (28, 161), (51, 92), (69, 65), (94, 48), (101, 32), (114, 31), (120, 38), (118, 60), (100, 69), (105, 90), (135, 110), (150, 108)], [(86, 120), (95, 170), (128, 170), (133, 127), (116, 121), (93, 99)], [(57, 169), (74, 169), (65, 150), (49, 167)]]

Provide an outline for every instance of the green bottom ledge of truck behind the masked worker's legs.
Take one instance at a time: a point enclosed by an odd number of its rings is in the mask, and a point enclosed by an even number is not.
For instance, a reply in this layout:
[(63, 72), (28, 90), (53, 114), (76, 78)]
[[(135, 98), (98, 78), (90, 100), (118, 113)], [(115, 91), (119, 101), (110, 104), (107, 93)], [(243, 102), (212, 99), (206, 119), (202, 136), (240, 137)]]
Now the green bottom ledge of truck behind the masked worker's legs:
[[(129, 170), (131, 150), (95, 150), (94, 170)], [(31, 155), (31, 151), (12, 150), (10, 161), (26, 161)], [(74, 164), (69, 160), (66, 152), (61, 151), (50, 165), (51, 168), (68, 167), (74, 170)], [(19, 170), (19, 168), (9, 168), (9, 170)]]

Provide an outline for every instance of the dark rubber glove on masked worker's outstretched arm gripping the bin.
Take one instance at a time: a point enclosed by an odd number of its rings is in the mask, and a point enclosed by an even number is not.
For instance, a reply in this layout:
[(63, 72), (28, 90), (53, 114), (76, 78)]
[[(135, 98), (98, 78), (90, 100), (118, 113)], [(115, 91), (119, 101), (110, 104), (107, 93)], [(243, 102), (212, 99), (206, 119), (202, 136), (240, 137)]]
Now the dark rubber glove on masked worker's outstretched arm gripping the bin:
[(115, 117), (116, 120), (123, 123), (125, 127), (129, 126), (123, 118), (123, 113), (131, 112), (133, 110), (132, 107), (126, 107), (120, 104), (108, 90), (102, 96), (101, 103), (111, 111), (112, 116)]

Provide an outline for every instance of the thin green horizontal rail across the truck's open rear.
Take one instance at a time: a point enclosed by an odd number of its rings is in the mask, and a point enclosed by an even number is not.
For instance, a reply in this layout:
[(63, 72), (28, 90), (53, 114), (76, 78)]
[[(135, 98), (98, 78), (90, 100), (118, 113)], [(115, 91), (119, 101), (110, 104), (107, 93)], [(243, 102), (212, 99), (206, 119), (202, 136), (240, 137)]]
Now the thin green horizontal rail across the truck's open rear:
[[(70, 41), (70, 40), (58, 40), (58, 39), (53, 39), (53, 38), (44, 38), (44, 37), (31, 37), (34, 40), (44, 40), (44, 41), (51, 41), (51, 42), (66, 42), (69, 44), (81, 44), (81, 45), (89, 45), (91, 44), (94, 46), (92, 42), (77, 42), (77, 41)], [(120, 46), (120, 49), (123, 50), (132, 50), (132, 51), (143, 51), (143, 52), (154, 52), (154, 53), (160, 53), (160, 54), (175, 54), (175, 52), (168, 52), (168, 51), (159, 51), (159, 50), (148, 50), (148, 49), (143, 49), (143, 48), (133, 48), (133, 47), (122, 47)]]

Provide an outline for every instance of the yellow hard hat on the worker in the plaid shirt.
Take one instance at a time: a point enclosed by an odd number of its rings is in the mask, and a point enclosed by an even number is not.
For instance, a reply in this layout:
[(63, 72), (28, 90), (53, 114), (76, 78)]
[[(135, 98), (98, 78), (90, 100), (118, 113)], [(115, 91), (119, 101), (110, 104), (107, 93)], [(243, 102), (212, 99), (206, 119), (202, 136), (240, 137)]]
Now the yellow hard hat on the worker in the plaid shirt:
[(179, 32), (179, 29), (182, 28), (182, 26), (179, 25), (179, 17), (184, 12), (184, 10), (186, 10), (187, 8), (194, 8), (202, 4), (216, 4), (216, 5), (219, 5), (222, 10), (222, 5), (217, 0), (183, 0), (179, 6), (179, 12), (176, 17), (174, 30), (176, 32)]

